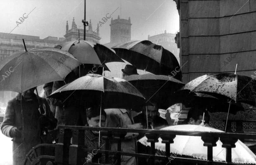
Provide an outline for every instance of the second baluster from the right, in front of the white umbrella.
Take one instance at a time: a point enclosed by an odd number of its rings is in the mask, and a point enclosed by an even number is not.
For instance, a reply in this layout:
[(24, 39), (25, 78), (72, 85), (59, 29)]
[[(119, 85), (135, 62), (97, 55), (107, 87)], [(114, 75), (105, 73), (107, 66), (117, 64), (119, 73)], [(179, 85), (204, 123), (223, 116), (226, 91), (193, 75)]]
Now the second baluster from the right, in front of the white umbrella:
[(219, 140), (219, 137), (215, 137), (211, 134), (207, 134), (201, 137), (204, 141), (204, 146), (207, 147), (207, 160), (208, 164), (213, 162), (213, 147), (216, 147), (216, 142)]

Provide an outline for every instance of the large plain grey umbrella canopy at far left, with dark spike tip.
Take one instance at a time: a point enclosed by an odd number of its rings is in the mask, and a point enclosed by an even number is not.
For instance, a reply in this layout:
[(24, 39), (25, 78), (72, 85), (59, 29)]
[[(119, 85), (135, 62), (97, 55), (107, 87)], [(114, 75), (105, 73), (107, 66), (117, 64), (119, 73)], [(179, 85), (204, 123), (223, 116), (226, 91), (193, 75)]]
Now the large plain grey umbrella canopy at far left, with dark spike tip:
[(80, 63), (63, 50), (34, 48), (0, 62), (0, 90), (24, 92), (47, 82), (64, 80)]

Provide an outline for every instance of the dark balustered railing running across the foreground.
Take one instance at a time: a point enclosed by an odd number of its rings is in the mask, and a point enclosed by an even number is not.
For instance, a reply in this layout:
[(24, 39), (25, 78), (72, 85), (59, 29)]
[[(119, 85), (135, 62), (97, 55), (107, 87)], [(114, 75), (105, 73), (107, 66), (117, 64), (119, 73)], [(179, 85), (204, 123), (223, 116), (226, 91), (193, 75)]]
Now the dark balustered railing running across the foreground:
[[(176, 135), (199, 136), (204, 141), (204, 146), (207, 147), (207, 160), (199, 160), (191, 157), (175, 157), (175, 162), (188, 162), (200, 164), (236, 164), (232, 163), (232, 148), (235, 148), (235, 143), (238, 139), (256, 139), (254, 133), (222, 133), (222, 132), (200, 132), (200, 131), (169, 131), (169, 130), (148, 130), (148, 129), (128, 129), (128, 128), (104, 128), (104, 127), (84, 127), (84, 126), (58, 126), (59, 141), (55, 144), (55, 163), (69, 165), (83, 165), (88, 152), (93, 149), (87, 149), (84, 145), (85, 130), (101, 131), (101, 137), (105, 140), (105, 150), (97, 149), (98, 153), (105, 154), (106, 163), (109, 162), (109, 155), (117, 155), (118, 164), (121, 163), (121, 155), (147, 157), (150, 164), (154, 165), (155, 160), (165, 160), (169, 162), (172, 156), (170, 155), (170, 144)], [(121, 151), (121, 141), (126, 133), (142, 133), (147, 137), (147, 142), (151, 143), (150, 154), (137, 154)], [(70, 144), (70, 135), (72, 133), (72, 144)], [(166, 144), (165, 156), (158, 156), (155, 150), (155, 142), (161, 137), (162, 143)], [(225, 162), (213, 161), (213, 147), (220, 140), (222, 147), (226, 150)], [(118, 144), (118, 151), (111, 151), (111, 142), (115, 141)], [(173, 159), (171, 159), (173, 160)]]

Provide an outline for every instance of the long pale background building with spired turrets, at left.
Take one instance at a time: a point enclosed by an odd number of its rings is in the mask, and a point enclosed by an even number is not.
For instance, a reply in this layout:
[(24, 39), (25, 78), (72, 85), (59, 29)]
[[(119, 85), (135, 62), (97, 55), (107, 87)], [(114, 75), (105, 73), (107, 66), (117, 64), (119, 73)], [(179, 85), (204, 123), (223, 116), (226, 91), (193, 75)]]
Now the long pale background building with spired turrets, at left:
[[(80, 38), (83, 39), (83, 29), (79, 29)], [(40, 39), (38, 36), (29, 36), (21, 34), (9, 34), (0, 32), (0, 60), (3, 60), (9, 55), (13, 55), (19, 51), (25, 51), (24, 44), (22, 39), (24, 39), (27, 50), (31, 48), (43, 48), (43, 47), (55, 47), (58, 44), (61, 44), (66, 41), (75, 41), (78, 39), (78, 28), (76, 26), (75, 20), (73, 18), (71, 29), (69, 30), (68, 21), (66, 23), (66, 34), (65, 38), (51, 37), (48, 36), (44, 39)], [(88, 30), (85, 33), (86, 41), (92, 41), (99, 43), (100, 34), (99, 26), (97, 27), (96, 32), (92, 31), (92, 23), (88, 26)], [(16, 92), (0, 92), (0, 104), (7, 103), (10, 99), (16, 96)]]

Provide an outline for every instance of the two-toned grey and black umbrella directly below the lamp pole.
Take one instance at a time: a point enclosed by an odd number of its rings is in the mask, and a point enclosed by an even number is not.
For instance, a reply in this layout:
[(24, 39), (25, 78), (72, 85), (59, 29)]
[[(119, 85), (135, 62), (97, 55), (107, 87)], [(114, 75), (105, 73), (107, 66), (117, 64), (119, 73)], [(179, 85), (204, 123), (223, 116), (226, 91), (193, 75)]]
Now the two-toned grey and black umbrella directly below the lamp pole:
[(82, 64), (103, 65), (105, 70), (109, 70), (105, 63), (124, 62), (116, 55), (114, 50), (90, 41), (78, 39), (76, 41), (64, 42), (55, 46), (55, 48), (71, 53)]

